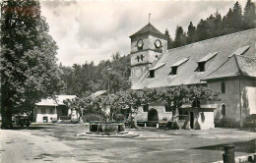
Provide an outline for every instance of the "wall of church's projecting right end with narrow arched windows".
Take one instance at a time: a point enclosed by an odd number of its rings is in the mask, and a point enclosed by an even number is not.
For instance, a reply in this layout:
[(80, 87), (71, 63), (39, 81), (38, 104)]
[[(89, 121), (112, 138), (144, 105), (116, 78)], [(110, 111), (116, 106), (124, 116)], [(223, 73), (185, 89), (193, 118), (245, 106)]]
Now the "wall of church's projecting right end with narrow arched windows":
[[(221, 101), (208, 101), (209, 104), (217, 103), (215, 110), (215, 124), (217, 127), (243, 126), (249, 114), (246, 86), (255, 87), (255, 81), (245, 78), (231, 78), (219, 81), (208, 81), (208, 87), (222, 90), (222, 81), (225, 82), (225, 93), (221, 93)], [(240, 88), (239, 88), (240, 87)], [(222, 114), (222, 105), (225, 104), (225, 116)], [(240, 124), (241, 119), (241, 124)]]

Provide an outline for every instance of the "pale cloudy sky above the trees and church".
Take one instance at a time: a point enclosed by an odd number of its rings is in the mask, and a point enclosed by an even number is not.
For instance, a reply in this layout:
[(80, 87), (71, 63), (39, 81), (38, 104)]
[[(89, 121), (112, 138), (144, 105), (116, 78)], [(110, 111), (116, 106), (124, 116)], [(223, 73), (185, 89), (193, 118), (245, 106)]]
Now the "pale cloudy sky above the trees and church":
[[(244, 8), (246, 0), (238, 1)], [(150, 22), (161, 32), (187, 31), (218, 10), (224, 16), (235, 1), (63, 1), (40, 0), (41, 15), (57, 42), (58, 63), (64, 66), (111, 59), (130, 53), (130, 35)]]

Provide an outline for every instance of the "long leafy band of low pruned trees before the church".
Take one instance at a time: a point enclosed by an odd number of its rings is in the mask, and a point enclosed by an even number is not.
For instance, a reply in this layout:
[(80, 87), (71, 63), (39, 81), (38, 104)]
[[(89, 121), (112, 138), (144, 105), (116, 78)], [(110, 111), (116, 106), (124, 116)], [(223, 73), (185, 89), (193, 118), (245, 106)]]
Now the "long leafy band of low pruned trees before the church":
[(116, 94), (97, 96), (96, 98), (91, 98), (90, 96), (77, 98), (74, 100), (75, 103), (72, 103), (72, 101), (65, 101), (64, 103), (70, 109), (79, 108), (78, 111), (85, 113), (85, 115), (92, 113), (102, 114), (101, 108), (110, 107), (110, 115), (108, 116), (110, 116), (109, 118), (111, 120), (121, 119), (121, 115), (123, 115), (122, 111), (127, 109), (131, 124), (136, 126), (135, 117), (139, 107), (143, 104), (152, 104), (161, 101), (162, 104), (171, 107), (172, 119), (174, 119), (177, 116), (178, 109), (183, 104), (193, 103), (202, 99), (220, 100), (219, 94), (219, 91), (211, 90), (206, 86), (180, 85), (174, 87), (146, 88), (143, 90), (129, 89), (118, 91)]

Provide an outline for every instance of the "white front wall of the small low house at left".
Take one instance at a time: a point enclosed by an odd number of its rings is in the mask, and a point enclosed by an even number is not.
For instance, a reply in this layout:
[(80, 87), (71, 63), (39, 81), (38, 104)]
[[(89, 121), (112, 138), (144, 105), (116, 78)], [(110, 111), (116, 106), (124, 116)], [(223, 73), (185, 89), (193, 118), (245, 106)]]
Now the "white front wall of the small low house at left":
[[(45, 113), (42, 113), (41, 110), (45, 109)], [(36, 106), (36, 116), (35, 116), (35, 122), (36, 123), (42, 123), (43, 117), (48, 117), (48, 122), (51, 122), (51, 120), (55, 119), (57, 120), (57, 108), (55, 109), (54, 106)], [(53, 109), (53, 112), (50, 113), (50, 109)]]

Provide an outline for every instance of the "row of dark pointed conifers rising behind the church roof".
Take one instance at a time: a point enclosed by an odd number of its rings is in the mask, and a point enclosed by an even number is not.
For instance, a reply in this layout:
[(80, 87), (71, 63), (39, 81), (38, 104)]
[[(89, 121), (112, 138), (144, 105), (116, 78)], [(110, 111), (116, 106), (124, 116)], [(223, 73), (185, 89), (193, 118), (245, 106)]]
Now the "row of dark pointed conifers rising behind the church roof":
[[(169, 37), (168, 49), (253, 28), (256, 27), (255, 21), (255, 4), (251, 0), (247, 0), (242, 11), (241, 5), (236, 2), (233, 8), (229, 8), (224, 17), (217, 11), (206, 20), (201, 19), (196, 27), (190, 22), (187, 32), (182, 27), (177, 26), (175, 39), (172, 40)], [(169, 36), (167, 29), (165, 30), (165, 35)]]

